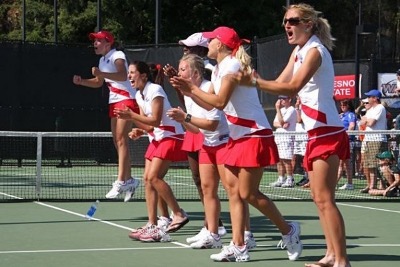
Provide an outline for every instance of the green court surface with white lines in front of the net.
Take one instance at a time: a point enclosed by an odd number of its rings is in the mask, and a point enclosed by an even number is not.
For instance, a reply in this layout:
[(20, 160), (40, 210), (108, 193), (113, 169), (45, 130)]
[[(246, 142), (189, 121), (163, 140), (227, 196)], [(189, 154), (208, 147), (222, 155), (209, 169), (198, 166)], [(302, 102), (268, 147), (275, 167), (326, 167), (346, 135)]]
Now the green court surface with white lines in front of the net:
[[(15, 196), (18, 197), (18, 196)], [(0, 266), (209, 266), (218, 249), (194, 250), (186, 238), (203, 224), (199, 201), (181, 201), (190, 222), (171, 234), (172, 242), (132, 241), (128, 233), (147, 222), (142, 200), (124, 203), (101, 201), (93, 220), (85, 218), (91, 202), (9, 202), (0, 204)], [(250, 266), (304, 266), (325, 252), (325, 241), (314, 204), (278, 201), (287, 220), (301, 224), (303, 254), (287, 259), (277, 248), (280, 234), (265, 217), (251, 209), (251, 227), (257, 247), (250, 252)], [(352, 266), (398, 266), (400, 206), (391, 202), (340, 202), (345, 218), (347, 247)], [(231, 238), (228, 203), (222, 202), (222, 220)], [(232, 263), (233, 264), (233, 263)]]

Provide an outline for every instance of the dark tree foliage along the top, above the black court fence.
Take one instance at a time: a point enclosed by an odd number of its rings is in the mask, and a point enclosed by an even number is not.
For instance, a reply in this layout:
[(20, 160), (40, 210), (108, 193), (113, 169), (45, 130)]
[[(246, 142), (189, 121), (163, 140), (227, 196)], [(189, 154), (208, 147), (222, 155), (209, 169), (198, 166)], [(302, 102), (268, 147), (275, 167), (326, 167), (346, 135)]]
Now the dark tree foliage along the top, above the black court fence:
[[(52, 42), (54, 3), (57, 7), (59, 42), (87, 43), (89, 32), (97, 30), (97, 4), (101, 1), (101, 27), (112, 31), (124, 44), (154, 44), (156, 3), (160, 6), (159, 43), (176, 43), (196, 31), (226, 25), (243, 38), (268, 37), (283, 33), (282, 16), (288, 1), (278, 0), (25, 0), (26, 41)], [(289, 1), (291, 3), (297, 1)], [(365, 55), (393, 57), (399, 38), (400, 0), (304, 0), (328, 18), (337, 38), (334, 57), (354, 56), (355, 26), (358, 20), (374, 24), (376, 34), (363, 39)], [(0, 40), (21, 39), (22, 0), (2, 0)], [(362, 5), (362, 17), (358, 6)], [(365, 44), (365, 46), (364, 46)], [(370, 47), (368, 47), (368, 45)]]

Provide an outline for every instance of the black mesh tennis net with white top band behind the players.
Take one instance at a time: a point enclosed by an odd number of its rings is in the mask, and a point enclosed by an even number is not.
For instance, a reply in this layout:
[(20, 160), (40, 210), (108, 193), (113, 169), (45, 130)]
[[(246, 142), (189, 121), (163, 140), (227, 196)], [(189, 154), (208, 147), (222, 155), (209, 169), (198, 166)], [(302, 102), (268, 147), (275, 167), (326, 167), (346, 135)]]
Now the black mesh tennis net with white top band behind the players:
[[(387, 143), (385, 149), (391, 150), (397, 156), (396, 139), (400, 136), (400, 131), (379, 133), (388, 136), (395, 133), (395, 138), (390, 138), (391, 141)], [(361, 132), (352, 131), (349, 134), (358, 137)], [(297, 145), (304, 144), (306, 140), (304, 133), (290, 135), (294, 136)], [(132, 176), (142, 179), (148, 138), (144, 136), (135, 141), (130, 140), (129, 145)], [(359, 173), (357, 163), (360, 147), (360, 142), (353, 142), (351, 164), (354, 189), (338, 189), (336, 198), (353, 201), (388, 199), (360, 192), (360, 189), (366, 186), (365, 176)], [(294, 180), (298, 183), (304, 176), (304, 170), (299, 162), (293, 165)], [(105, 194), (117, 178), (117, 167), (117, 154), (109, 132), (0, 131), (0, 202), (105, 199)], [(260, 184), (261, 192), (274, 200), (311, 200), (307, 186), (294, 185), (289, 188), (272, 186), (271, 183), (277, 178), (276, 166), (265, 168)], [(187, 162), (173, 163), (165, 180), (177, 199), (199, 199)], [(346, 179), (342, 178), (338, 187), (345, 181)], [(145, 199), (143, 184), (142, 182), (137, 189), (135, 199)], [(219, 196), (221, 199), (227, 199), (221, 185)]]

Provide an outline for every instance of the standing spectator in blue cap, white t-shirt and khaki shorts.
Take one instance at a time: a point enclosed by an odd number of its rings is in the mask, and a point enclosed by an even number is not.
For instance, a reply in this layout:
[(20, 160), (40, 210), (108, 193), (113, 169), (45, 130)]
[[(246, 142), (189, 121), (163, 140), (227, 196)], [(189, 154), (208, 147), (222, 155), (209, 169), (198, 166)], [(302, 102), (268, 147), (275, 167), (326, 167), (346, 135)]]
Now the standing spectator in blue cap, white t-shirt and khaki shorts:
[(376, 130), (386, 130), (386, 109), (380, 103), (381, 92), (377, 89), (365, 93), (368, 97), (367, 112), (361, 118), (360, 126), (365, 126), (365, 137), (361, 144), (361, 156), (363, 162), (364, 175), (367, 180), (366, 187), (361, 193), (368, 193), (370, 189), (376, 188), (376, 167), (378, 165), (376, 155), (387, 148), (387, 138), (385, 134), (373, 134)]

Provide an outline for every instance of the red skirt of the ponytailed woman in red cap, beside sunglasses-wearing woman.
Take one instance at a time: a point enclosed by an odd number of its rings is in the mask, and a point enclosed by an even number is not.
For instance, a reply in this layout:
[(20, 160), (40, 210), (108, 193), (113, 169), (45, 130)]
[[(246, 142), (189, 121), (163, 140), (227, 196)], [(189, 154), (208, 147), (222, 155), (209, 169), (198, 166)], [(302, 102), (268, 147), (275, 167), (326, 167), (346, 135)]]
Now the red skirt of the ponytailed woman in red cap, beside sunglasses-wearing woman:
[[(257, 136), (255, 136), (257, 135)], [(237, 140), (229, 138), (224, 163), (234, 167), (265, 167), (279, 162), (271, 129), (261, 130)]]

